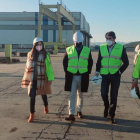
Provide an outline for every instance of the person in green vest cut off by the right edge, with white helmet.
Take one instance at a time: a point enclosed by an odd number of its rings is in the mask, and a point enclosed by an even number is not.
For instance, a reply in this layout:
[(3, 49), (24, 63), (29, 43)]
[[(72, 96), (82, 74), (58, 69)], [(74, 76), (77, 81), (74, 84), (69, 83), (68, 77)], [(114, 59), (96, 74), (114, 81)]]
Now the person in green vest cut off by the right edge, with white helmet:
[(132, 74), (132, 86), (131, 86), (131, 96), (140, 98), (138, 89), (138, 79), (140, 78), (140, 45), (137, 45), (135, 48), (135, 56), (134, 56), (134, 69)]

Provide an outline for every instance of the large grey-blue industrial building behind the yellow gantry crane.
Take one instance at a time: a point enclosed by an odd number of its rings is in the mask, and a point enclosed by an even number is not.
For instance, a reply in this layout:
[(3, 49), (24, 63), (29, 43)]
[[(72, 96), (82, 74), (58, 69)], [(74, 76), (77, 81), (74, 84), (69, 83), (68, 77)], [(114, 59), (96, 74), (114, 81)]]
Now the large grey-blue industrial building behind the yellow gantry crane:
[[(90, 46), (90, 26), (81, 12), (71, 12), (75, 19), (75, 30), (84, 35), (84, 45)], [(38, 32), (38, 12), (0, 12), (0, 46), (12, 44), (32, 47), (32, 41)], [(73, 28), (70, 22), (63, 23), (62, 38), (67, 44), (73, 44)], [(41, 37), (44, 42), (58, 42), (58, 25), (47, 16), (43, 16)]]

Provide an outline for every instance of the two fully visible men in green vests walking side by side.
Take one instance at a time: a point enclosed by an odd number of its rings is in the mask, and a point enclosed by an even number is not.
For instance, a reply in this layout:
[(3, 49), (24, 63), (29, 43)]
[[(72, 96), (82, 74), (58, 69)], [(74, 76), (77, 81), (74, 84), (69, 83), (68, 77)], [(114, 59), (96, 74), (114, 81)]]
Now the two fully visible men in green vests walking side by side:
[[(95, 76), (102, 76), (101, 96), (104, 101), (104, 117), (115, 123), (117, 96), (121, 74), (129, 65), (125, 47), (115, 42), (114, 32), (105, 34), (106, 43), (102, 44), (98, 53)], [(83, 36), (77, 32), (73, 36), (74, 45), (66, 49), (63, 59), (65, 76), (65, 90), (69, 95), (69, 116), (65, 120), (75, 121), (75, 106), (77, 93), (77, 116), (83, 118), (83, 92), (88, 91), (89, 74), (92, 71), (92, 55), (88, 47), (83, 46)], [(110, 103), (108, 100), (109, 86)]]

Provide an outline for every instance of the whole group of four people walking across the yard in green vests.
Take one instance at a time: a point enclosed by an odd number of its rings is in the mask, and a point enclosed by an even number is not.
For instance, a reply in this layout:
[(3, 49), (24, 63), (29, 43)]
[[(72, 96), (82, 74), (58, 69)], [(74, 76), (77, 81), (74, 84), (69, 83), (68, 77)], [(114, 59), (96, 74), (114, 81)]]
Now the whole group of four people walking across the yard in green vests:
[[(115, 123), (121, 74), (128, 67), (129, 60), (125, 47), (115, 42), (116, 35), (113, 31), (107, 32), (105, 39), (106, 43), (102, 44), (99, 48), (95, 76), (102, 76), (101, 97), (104, 102), (103, 116), (108, 117), (112, 123)], [(66, 121), (75, 121), (75, 109), (77, 109), (77, 117), (83, 118), (83, 93), (88, 92), (89, 74), (91, 74), (93, 66), (91, 50), (89, 47), (83, 45), (83, 41), (84, 38), (81, 32), (74, 33), (74, 45), (66, 48), (63, 58), (65, 72), (64, 90), (69, 91), (69, 116), (65, 118)], [(137, 58), (140, 61), (140, 56)], [(136, 65), (133, 72), (132, 88), (137, 86), (139, 70), (140, 65)], [(30, 96), (30, 116), (28, 122), (32, 122), (35, 118), (36, 95), (42, 96), (44, 113), (49, 112), (46, 94), (51, 93), (53, 80), (54, 73), (50, 55), (44, 49), (43, 40), (36, 37), (33, 40), (33, 48), (28, 53), (25, 73), (21, 84), (23, 88), (28, 88), (28, 95)], [(108, 99), (109, 87), (110, 102)]]

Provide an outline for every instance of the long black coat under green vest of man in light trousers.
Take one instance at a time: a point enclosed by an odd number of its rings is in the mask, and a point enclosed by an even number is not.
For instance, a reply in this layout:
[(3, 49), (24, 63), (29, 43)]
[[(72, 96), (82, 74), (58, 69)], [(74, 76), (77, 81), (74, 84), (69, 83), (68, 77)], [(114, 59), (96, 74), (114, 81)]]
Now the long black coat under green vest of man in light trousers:
[[(82, 49), (83, 49), (83, 47), (81, 47), (80, 50), (76, 48), (77, 53), (78, 53), (78, 58), (80, 56), (80, 53), (81, 53)], [(64, 55), (64, 59), (63, 59), (63, 67), (64, 67), (64, 71), (65, 71), (65, 86), (64, 86), (64, 90), (65, 91), (71, 91), (73, 75), (81, 75), (82, 76), (82, 79), (81, 79), (81, 92), (87, 92), (88, 91), (88, 86), (89, 86), (89, 74), (91, 73), (92, 65), (93, 65), (93, 60), (92, 60), (92, 56), (91, 56), (91, 52), (90, 52), (89, 59), (88, 59), (88, 72), (86, 72), (84, 74), (80, 74), (79, 71), (78, 71), (76, 74), (72, 74), (72, 73), (67, 71), (68, 54), (66, 52), (65, 55)]]

